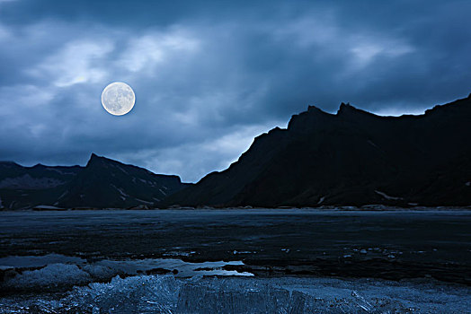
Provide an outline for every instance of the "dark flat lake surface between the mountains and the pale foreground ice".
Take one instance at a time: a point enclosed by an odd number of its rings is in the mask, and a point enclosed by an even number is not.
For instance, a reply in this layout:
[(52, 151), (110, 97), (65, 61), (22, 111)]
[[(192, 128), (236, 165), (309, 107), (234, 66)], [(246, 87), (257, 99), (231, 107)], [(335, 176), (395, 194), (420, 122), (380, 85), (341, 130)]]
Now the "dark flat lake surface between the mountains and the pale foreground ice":
[[(258, 276), (471, 284), (470, 211), (156, 210), (0, 213), (0, 257), (243, 261)], [(156, 267), (162, 274), (173, 269)], [(3, 275), (4, 276), (4, 275)], [(1, 279), (1, 278), (0, 278)]]

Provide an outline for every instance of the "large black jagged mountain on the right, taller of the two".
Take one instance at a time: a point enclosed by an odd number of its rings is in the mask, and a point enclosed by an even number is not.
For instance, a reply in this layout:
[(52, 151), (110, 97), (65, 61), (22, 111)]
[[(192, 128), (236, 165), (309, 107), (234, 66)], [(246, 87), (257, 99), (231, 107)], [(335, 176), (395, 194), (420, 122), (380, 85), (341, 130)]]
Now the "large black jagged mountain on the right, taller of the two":
[(161, 205), (471, 205), (471, 95), (423, 115), (310, 106)]

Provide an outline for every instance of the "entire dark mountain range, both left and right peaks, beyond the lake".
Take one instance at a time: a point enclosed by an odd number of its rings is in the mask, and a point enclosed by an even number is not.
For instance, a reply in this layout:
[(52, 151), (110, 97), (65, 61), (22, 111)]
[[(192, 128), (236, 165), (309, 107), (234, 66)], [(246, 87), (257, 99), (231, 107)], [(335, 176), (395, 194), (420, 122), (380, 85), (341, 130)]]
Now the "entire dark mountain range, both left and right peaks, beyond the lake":
[(471, 205), (471, 95), (420, 116), (310, 106), (198, 183), (92, 154), (85, 167), (0, 162), (0, 207)]

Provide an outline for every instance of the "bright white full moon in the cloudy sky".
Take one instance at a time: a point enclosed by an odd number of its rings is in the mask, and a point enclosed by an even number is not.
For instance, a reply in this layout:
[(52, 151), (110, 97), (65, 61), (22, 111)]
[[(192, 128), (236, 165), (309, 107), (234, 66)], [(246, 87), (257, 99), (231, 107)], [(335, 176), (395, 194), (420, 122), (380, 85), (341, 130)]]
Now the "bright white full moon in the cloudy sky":
[(135, 101), (134, 91), (127, 83), (111, 83), (102, 92), (103, 108), (114, 116), (127, 114), (134, 107)]

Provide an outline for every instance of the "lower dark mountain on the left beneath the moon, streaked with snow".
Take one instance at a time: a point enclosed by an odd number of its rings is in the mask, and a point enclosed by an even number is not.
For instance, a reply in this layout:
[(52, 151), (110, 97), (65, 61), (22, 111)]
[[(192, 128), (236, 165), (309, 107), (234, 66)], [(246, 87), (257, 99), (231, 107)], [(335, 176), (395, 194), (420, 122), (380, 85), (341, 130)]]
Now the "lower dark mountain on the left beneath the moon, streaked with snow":
[(0, 162), (0, 208), (153, 206), (187, 186), (177, 176), (92, 154), (85, 167), (23, 167)]

